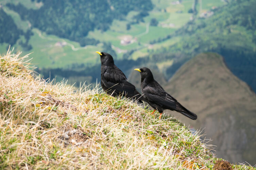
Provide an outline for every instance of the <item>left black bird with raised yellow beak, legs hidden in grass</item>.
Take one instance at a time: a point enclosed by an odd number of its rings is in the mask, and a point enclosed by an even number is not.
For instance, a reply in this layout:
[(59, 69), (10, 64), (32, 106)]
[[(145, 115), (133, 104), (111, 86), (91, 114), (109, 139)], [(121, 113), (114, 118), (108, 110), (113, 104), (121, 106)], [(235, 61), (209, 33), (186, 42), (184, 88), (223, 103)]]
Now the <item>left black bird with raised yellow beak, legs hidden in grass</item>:
[(135, 86), (127, 82), (124, 73), (114, 64), (113, 57), (106, 52), (96, 51), (101, 60), (101, 87), (108, 94), (114, 97), (124, 95), (142, 103), (141, 94)]

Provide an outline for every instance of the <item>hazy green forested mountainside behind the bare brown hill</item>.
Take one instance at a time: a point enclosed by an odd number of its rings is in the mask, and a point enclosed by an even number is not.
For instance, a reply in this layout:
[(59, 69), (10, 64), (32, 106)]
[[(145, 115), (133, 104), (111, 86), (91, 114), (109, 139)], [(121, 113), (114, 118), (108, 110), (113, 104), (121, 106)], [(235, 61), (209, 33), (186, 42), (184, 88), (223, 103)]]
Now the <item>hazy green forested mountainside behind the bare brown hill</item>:
[(256, 91), (255, 4), (254, 0), (231, 1), (208, 19), (188, 22), (174, 34), (183, 39), (165, 51), (186, 54), (188, 58), (201, 52), (216, 52), (225, 58), (234, 75)]

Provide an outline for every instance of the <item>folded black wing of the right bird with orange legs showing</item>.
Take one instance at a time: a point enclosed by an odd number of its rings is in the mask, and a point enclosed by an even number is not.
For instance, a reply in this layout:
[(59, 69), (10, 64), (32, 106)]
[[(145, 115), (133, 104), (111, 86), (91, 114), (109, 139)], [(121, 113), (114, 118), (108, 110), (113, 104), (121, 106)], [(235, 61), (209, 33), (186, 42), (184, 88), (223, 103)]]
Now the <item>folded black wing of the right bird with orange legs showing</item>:
[(175, 109), (177, 100), (169, 95), (160, 85), (146, 86), (143, 88), (144, 97), (149, 101), (164, 107), (165, 109)]

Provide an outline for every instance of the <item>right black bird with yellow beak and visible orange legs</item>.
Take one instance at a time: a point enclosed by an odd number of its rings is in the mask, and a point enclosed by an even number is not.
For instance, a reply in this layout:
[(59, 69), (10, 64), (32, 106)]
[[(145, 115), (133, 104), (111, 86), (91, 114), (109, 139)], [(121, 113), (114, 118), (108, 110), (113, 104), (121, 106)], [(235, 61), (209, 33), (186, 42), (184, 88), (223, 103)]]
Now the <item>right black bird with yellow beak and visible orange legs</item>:
[[(163, 87), (157, 83), (153, 77), (152, 72), (149, 68), (136, 68), (141, 75), (141, 91), (144, 98), (149, 100), (149, 105), (155, 110), (160, 112), (159, 119), (165, 109), (175, 110), (181, 114), (187, 116), (192, 120), (197, 119), (197, 115), (184, 106), (182, 106), (176, 99), (174, 99), (170, 94), (168, 94)], [(152, 112), (152, 114), (155, 112)]]

